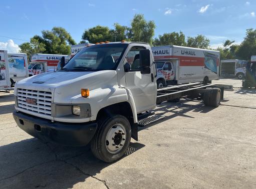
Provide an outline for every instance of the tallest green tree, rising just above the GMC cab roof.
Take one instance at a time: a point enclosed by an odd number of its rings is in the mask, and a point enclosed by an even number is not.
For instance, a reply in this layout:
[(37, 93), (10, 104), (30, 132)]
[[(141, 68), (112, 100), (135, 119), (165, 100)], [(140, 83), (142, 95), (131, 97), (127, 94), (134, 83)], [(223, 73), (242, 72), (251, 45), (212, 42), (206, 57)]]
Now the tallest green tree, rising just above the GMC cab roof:
[(128, 36), (133, 41), (152, 44), (155, 28), (154, 21), (146, 21), (143, 14), (135, 14), (131, 23), (131, 29), (128, 29)]

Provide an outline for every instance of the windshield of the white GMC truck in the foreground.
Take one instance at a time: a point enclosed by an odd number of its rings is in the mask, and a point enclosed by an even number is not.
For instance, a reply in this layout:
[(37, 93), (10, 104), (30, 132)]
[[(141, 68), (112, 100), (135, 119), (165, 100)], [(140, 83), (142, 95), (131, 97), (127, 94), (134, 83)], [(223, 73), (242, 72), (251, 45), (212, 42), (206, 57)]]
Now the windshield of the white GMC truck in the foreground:
[(127, 46), (126, 43), (118, 43), (86, 47), (63, 69), (66, 71), (115, 70)]

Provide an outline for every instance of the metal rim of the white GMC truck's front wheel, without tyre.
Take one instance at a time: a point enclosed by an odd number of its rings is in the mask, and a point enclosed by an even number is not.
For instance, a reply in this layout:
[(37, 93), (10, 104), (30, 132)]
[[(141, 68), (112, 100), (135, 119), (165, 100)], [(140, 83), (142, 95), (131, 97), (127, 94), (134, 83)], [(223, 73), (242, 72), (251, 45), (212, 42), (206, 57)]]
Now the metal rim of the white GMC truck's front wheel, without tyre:
[(125, 127), (118, 123), (113, 125), (106, 136), (106, 148), (109, 153), (116, 154), (121, 151), (126, 141)]

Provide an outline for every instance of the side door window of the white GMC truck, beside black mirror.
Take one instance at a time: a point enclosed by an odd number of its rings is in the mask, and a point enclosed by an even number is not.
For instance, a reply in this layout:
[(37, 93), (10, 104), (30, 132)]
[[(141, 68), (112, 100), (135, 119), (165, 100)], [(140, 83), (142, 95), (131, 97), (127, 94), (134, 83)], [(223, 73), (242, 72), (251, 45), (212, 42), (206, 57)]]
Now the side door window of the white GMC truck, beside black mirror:
[(145, 49), (142, 46), (134, 46), (127, 53), (127, 61), (131, 65), (131, 71), (140, 71), (140, 50)]

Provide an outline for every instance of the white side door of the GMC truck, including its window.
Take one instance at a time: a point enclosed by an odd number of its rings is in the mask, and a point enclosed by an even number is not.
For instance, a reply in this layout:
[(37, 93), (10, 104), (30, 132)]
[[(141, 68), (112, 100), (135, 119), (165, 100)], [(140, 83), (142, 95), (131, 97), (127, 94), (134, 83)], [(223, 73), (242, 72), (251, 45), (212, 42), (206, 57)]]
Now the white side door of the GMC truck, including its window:
[(155, 65), (151, 57), (151, 73), (141, 74), (139, 53), (142, 49), (145, 47), (131, 47), (126, 56), (127, 61), (124, 62), (131, 65), (130, 71), (125, 72), (125, 80), (126, 88), (131, 90), (137, 113), (154, 108), (156, 103)]

